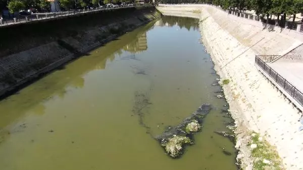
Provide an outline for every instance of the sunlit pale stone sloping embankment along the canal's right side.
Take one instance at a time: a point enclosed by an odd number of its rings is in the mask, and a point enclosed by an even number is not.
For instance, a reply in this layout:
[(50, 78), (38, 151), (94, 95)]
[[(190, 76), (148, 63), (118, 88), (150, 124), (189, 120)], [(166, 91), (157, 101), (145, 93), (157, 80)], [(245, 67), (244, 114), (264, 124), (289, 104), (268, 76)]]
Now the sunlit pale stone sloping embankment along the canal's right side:
[[(204, 45), (211, 53), (221, 78), (230, 80), (224, 86), (230, 111), (238, 132), (238, 158), (252, 168), (247, 131), (256, 131), (273, 146), (287, 169), (303, 168), (303, 133), (298, 132), (298, 111), (281, 96), (255, 67), (255, 55), (283, 55), (303, 41), (293, 31), (264, 29), (262, 23), (228, 16), (212, 6), (159, 6), (164, 15), (178, 16), (181, 11), (200, 19)], [(267, 161), (265, 161), (267, 162)], [(268, 163), (268, 162), (267, 162)], [(266, 163), (265, 163), (266, 164)], [(270, 165), (270, 164), (269, 164)]]

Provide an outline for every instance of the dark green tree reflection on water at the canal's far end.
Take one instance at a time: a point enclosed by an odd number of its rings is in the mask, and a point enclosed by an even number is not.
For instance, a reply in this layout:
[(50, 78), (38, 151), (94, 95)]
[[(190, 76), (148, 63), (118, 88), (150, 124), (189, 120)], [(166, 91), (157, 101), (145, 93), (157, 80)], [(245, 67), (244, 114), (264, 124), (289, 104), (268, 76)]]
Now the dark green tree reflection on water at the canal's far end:
[(192, 29), (193, 31), (197, 31), (198, 28), (198, 20), (189, 19), (186, 17), (173, 17), (173, 16), (162, 16), (162, 20), (157, 21), (155, 26), (179, 26), (180, 29), (186, 28), (188, 31)]

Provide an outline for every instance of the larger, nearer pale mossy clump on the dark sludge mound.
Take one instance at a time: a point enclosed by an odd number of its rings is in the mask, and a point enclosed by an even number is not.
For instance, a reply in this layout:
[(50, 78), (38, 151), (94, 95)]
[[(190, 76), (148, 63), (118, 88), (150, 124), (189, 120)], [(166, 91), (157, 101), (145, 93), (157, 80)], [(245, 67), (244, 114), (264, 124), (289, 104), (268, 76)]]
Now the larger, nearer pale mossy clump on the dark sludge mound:
[(162, 146), (171, 157), (178, 157), (181, 154), (183, 146), (190, 143), (191, 141), (188, 137), (176, 135), (168, 139)]

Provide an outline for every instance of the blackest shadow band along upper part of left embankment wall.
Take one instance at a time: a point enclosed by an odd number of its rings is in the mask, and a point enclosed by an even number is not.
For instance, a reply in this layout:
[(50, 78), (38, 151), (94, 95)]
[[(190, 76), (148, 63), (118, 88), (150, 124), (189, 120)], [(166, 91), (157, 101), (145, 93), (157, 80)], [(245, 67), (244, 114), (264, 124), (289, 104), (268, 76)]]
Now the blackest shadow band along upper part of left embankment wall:
[(79, 17), (47, 22), (16, 25), (1, 29), (0, 57), (24, 51), (65, 37), (85, 34), (83, 30), (121, 22), (130, 16), (139, 17), (155, 9), (128, 8), (119, 11), (99, 12)]

